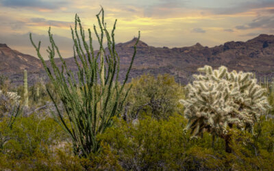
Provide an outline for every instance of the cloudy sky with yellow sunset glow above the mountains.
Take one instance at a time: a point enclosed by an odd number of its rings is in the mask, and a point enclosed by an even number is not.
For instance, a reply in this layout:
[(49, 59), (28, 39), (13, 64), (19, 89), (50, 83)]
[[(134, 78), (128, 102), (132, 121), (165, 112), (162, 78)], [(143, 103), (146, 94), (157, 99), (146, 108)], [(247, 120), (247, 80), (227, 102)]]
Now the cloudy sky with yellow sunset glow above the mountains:
[(115, 41), (138, 36), (153, 47), (189, 47), (197, 42), (214, 47), (227, 41), (247, 41), (260, 34), (274, 34), (274, 0), (0, 0), (0, 43), (29, 55), (41, 40), (47, 59), (48, 29), (63, 57), (73, 56), (71, 27), (75, 14), (92, 31), (103, 7), (105, 23)]

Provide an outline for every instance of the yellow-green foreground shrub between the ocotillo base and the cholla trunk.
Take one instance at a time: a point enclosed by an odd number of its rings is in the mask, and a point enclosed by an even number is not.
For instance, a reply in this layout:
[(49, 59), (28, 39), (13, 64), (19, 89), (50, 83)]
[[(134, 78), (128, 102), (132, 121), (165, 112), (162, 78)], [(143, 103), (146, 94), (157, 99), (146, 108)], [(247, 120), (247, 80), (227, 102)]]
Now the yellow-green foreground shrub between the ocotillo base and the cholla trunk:
[(99, 138), (110, 145), (125, 170), (180, 169), (189, 145), (182, 134), (185, 123), (184, 117), (177, 115), (169, 120), (147, 116), (138, 124), (116, 118), (114, 126)]

